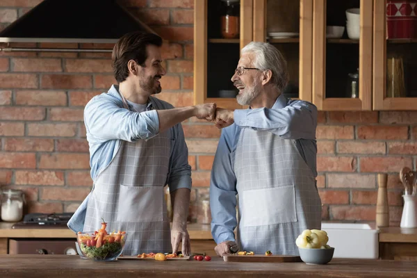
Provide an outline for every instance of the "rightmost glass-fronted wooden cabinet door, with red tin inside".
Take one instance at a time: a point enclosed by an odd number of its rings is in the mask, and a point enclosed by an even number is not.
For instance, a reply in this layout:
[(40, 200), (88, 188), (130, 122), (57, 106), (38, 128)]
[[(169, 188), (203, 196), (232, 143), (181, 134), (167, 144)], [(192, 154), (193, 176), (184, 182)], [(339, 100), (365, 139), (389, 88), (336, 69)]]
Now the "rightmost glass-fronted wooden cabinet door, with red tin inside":
[(417, 110), (416, 2), (374, 0), (375, 110)]

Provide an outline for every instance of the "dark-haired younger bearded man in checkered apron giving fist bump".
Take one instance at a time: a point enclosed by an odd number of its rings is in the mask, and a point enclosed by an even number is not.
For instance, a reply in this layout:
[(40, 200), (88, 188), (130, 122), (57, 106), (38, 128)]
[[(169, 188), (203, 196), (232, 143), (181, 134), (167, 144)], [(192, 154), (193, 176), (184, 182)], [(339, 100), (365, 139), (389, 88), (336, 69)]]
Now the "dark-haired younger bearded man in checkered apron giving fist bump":
[[(92, 98), (84, 122), (90, 145), (91, 193), (68, 227), (95, 231), (101, 219), (108, 231), (126, 231), (124, 254), (190, 253), (186, 229), (191, 188), (188, 148), (181, 122), (213, 120), (215, 104), (174, 108), (152, 95), (165, 75), (162, 39), (133, 32), (115, 44), (112, 65), (119, 85)], [(167, 218), (163, 187), (172, 198), (173, 223)]]

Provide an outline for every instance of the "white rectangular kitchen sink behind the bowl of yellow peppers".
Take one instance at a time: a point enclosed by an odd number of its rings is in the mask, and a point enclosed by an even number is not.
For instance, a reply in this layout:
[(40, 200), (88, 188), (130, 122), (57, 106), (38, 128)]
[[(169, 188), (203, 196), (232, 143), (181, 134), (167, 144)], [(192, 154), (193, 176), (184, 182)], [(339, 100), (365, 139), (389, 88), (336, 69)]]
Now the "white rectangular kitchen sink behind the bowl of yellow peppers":
[(327, 231), (334, 258), (378, 259), (378, 229), (363, 223), (322, 222)]

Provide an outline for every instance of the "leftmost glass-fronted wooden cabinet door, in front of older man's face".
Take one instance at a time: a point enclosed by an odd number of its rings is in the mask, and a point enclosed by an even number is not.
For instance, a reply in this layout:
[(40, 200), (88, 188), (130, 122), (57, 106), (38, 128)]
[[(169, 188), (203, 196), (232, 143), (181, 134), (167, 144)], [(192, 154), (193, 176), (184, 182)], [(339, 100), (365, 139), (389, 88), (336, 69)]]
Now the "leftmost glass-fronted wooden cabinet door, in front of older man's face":
[(194, 102), (215, 102), (222, 108), (243, 108), (236, 101), (238, 90), (231, 76), (238, 65), (240, 49), (252, 41), (253, 0), (235, 6), (239, 25), (237, 38), (223, 38), (222, 15), (225, 1), (194, 2)]

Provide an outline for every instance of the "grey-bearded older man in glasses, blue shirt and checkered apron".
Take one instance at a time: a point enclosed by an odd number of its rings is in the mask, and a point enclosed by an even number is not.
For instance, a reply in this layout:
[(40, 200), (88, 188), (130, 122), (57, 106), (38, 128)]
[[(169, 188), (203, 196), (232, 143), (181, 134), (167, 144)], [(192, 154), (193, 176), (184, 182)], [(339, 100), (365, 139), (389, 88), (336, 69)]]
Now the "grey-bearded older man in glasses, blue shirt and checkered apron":
[(251, 42), (242, 49), (231, 81), (239, 90), (238, 103), (250, 109), (216, 111), (216, 125), (227, 127), (211, 172), (215, 252), (222, 256), (238, 247), (297, 255), (297, 236), (321, 227), (317, 108), (284, 97), (286, 61), (268, 43)]

